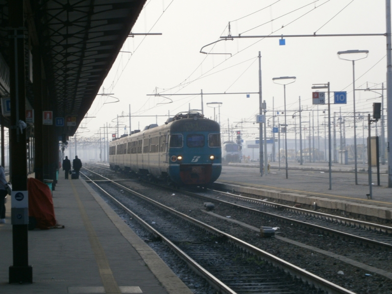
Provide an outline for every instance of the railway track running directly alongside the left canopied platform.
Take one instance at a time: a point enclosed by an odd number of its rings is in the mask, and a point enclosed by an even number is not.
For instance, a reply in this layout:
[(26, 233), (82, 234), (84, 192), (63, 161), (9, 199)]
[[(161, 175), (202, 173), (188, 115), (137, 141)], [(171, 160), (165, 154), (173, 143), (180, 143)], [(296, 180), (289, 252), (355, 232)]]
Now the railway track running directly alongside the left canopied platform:
[[(171, 247), (176, 254), (181, 256), (181, 259), (186, 260), (190, 268), (196, 270), (221, 293), (302, 294), (322, 293), (322, 291), (324, 293), (353, 293), (208, 224), (132, 191), (119, 182), (103, 176), (105, 182), (96, 182), (87, 176), (86, 178), (99, 187), (102, 193), (111, 197), (117, 206), (138, 219), (156, 238)], [(122, 193), (105, 191), (113, 190), (113, 185), (118, 187), (117, 191), (121, 189)], [(126, 199), (138, 197), (137, 201), (143, 199), (153, 207), (146, 209), (147, 204), (139, 202), (137, 202), (139, 204), (128, 204), (132, 210), (138, 211), (132, 212), (121, 203), (125, 201), (123, 192), (129, 195)], [(138, 209), (139, 206), (140, 209)], [(156, 207), (159, 207), (159, 211)]]

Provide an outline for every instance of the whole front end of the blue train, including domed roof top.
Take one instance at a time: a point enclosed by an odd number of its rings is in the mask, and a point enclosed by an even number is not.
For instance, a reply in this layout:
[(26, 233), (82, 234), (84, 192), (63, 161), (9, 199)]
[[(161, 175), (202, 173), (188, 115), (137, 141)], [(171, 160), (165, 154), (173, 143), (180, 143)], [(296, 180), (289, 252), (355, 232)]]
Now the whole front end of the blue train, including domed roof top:
[(168, 155), (169, 176), (174, 183), (207, 186), (215, 182), (222, 170), (219, 124), (200, 114), (175, 120)]

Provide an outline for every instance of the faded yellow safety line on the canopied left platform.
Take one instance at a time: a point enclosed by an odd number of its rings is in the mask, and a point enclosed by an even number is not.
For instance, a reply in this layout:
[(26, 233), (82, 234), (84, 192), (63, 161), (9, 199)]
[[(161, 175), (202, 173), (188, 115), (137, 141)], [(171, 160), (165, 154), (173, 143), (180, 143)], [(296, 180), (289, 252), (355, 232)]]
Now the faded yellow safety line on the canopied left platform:
[(73, 195), (75, 196), (77, 206), (79, 207), (80, 214), (83, 219), (83, 224), (86, 228), (87, 235), (89, 237), (91, 248), (93, 249), (95, 259), (97, 261), (99, 274), (101, 276), (103, 288), (105, 289), (105, 293), (121, 293), (119, 286), (117, 285), (116, 280), (114, 279), (113, 272), (110, 269), (109, 261), (106, 257), (105, 251), (103, 250), (102, 245), (99, 243), (98, 236), (94, 230), (93, 224), (91, 223), (89, 216), (87, 215), (86, 209), (82, 201), (80, 200), (79, 194), (77, 193), (73, 182), (70, 181)]

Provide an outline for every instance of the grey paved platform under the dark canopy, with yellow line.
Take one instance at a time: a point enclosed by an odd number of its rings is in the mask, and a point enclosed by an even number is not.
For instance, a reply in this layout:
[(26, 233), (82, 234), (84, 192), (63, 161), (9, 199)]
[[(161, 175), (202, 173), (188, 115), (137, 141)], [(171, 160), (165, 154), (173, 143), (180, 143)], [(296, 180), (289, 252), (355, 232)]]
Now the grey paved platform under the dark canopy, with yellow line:
[(54, 212), (63, 229), (28, 231), (32, 284), (8, 284), (11, 204), (0, 224), (2, 294), (191, 294), (161, 258), (82, 179), (59, 176)]

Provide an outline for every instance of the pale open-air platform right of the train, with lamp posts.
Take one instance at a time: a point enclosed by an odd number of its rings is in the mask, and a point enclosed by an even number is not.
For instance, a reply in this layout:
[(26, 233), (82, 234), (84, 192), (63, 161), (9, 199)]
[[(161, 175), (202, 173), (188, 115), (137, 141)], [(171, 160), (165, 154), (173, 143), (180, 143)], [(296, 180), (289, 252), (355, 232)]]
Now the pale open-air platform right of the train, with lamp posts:
[[(273, 168), (272, 168), (273, 167)], [(294, 168), (294, 169), (290, 169)], [(284, 163), (280, 169), (271, 163), (268, 175), (260, 176), (258, 163), (233, 163), (222, 167), (215, 185), (220, 189), (244, 194), (255, 194), (269, 201), (295, 203), (309, 207), (340, 210), (342, 214), (356, 217), (368, 216), (392, 221), (392, 188), (387, 188), (388, 175), (380, 166), (380, 186), (375, 168), (372, 173), (372, 197), (369, 194), (366, 167), (358, 165), (358, 184), (355, 184), (354, 165), (333, 164), (332, 189), (329, 190), (328, 163), (289, 163), (288, 178)]]

